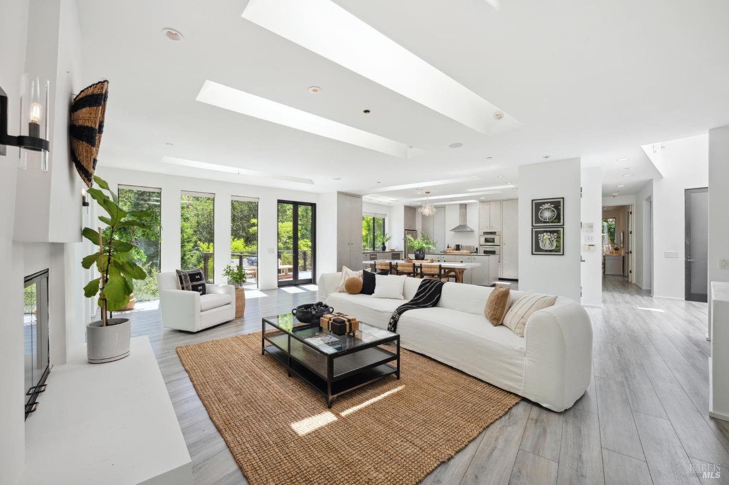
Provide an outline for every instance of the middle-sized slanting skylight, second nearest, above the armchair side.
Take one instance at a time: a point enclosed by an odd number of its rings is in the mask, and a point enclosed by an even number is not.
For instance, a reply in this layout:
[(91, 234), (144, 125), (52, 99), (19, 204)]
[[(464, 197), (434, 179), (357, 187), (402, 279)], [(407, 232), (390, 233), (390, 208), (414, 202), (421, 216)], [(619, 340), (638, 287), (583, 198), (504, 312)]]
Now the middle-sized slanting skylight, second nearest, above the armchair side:
[(246, 114), (249, 117), (264, 119), (278, 125), (362, 146), (395, 157), (410, 158), (424, 153), (420, 149), (410, 148), (405, 143), (399, 143), (399, 141), (393, 141), (374, 133), (359, 130), (359, 128), (343, 125), (331, 119), (322, 118), (316, 116), (316, 114), (307, 113), (209, 80), (206, 80), (203, 84), (198, 97), (195, 99), (212, 106)]

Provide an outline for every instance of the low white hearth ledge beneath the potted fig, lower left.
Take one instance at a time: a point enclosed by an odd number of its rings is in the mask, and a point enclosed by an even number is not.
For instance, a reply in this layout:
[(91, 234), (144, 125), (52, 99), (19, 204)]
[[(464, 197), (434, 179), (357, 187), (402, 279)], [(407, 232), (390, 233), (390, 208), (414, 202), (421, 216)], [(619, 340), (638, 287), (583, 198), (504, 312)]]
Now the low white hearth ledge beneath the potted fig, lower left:
[(90, 364), (86, 347), (52, 368), (26, 420), (20, 484), (191, 485), (192, 462), (147, 336), (127, 358)]

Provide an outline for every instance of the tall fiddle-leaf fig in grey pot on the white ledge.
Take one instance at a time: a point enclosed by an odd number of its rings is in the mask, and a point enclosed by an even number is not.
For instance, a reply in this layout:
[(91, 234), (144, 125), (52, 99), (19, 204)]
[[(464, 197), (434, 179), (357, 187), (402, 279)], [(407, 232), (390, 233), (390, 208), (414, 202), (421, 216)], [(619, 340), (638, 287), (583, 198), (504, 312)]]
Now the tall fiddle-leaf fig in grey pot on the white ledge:
[[(87, 194), (106, 211), (107, 216), (98, 218), (106, 224), (105, 229), (85, 227), (82, 231), (83, 237), (98, 246), (98, 251), (82, 259), (81, 265), (89, 269), (95, 264), (100, 275), (84, 287), (87, 298), (98, 295), (98, 306), (101, 307), (101, 320), (86, 326), (86, 352), (90, 363), (104, 363), (129, 355), (129, 319), (113, 318), (112, 312), (129, 303), (129, 297), (134, 292), (133, 280), (147, 278), (144, 269), (133, 261), (135, 246), (120, 235), (125, 234), (125, 228), (149, 229), (146, 221), (152, 217), (152, 213), (147, 210), (122, 210), (117, 194), (109, 189), (109, 184), (96, 176), (93, 180), (100, 189), (88, 189)], [(109, 195), (101, 189), (109, 192)]]

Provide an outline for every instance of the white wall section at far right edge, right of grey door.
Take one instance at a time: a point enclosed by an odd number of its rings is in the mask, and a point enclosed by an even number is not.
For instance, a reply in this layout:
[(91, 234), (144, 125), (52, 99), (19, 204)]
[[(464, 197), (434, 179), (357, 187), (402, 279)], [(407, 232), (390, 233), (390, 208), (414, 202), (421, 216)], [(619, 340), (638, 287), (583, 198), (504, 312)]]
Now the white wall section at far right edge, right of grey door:
[[(709, 130), (709, 291), (712, 281), (729, 281), (729, 269), (719, 267), (720, 259), (729, 259), (727, 208), (729, 208), (729, 126)], [(712, 306), (709, 305), (709, 323), (711, 310)], [(709, 335), (711, 335), (710, 326)]]

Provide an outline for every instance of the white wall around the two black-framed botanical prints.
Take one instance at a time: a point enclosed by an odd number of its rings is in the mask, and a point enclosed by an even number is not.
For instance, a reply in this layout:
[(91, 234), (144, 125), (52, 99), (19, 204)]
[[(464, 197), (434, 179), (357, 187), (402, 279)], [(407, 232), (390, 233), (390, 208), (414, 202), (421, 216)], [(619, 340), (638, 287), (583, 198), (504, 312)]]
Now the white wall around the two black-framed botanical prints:
[[(564, 256), (531, 254), (531, 200), (564, 197)], [(580, 301), (580, 159), (519, 167), (519, 289)]]

